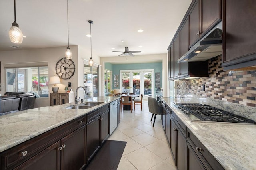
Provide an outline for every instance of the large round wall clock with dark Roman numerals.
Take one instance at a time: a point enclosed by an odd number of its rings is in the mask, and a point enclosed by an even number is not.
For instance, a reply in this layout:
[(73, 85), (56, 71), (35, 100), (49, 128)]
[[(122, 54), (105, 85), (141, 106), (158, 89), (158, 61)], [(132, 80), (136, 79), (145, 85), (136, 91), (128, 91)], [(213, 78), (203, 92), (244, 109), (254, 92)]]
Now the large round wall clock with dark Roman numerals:
[(56, 63), (55, 71), (61, 79), (70, 79), (75, 73), (75, 64), (71, 59), (62, 58)]

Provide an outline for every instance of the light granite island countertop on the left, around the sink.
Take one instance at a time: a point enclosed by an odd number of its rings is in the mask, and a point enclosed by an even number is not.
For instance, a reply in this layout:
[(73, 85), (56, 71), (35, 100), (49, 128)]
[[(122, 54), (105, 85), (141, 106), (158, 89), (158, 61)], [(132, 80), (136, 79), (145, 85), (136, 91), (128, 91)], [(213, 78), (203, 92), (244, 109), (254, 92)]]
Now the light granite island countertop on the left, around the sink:
[(85, 115), (120, 97), (94, 97), (86, 101), (103, 102), (89, 109), (66, 109), (75, 103), (39, 107), (0, 116), (0, 152)]

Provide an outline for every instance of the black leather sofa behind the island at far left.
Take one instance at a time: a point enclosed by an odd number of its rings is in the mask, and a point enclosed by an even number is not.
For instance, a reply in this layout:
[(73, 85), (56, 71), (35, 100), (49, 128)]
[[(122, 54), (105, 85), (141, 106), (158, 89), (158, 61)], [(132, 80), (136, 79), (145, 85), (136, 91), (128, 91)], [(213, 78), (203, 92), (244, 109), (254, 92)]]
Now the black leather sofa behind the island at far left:
[(26, 92), (6, 92), (0, 97), (0, 115), (34, 108), (36, 95)]

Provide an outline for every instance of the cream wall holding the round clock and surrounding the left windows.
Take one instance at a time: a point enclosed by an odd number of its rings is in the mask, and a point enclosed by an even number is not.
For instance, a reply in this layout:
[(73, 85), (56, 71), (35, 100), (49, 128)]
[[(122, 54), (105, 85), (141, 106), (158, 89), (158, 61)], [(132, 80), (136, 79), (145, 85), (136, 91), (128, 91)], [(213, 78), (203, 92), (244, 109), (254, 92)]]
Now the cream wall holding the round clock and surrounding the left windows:
[[(90, 51), (82, 49), (77, 45), (70, 46), (72, 51), (72, 60), (74, 61), (76, 70), (74, 75), (68, 80), (60, 79), (61, 84), (58, 84), (58, 92), (64, 92), (64, 87), (68, 86), (68, 82), (71, 82), (71, 88), (76, 89), (79, 85), (83, 85), (83, 62), (82, 58), (90, 59)], [(55, 66), (59, 59), (65, 57), (64, 53), (66, 47), (52, 47), (52, 48), (42, 48), (42, 49), (24, 49), (15, 51), (0, 51), (0, 61), (1, 61), (1, 84), (2, 90), (1, 95), (6, 92), (6, 73), (3, 65), (7, 63), (26, 63), (26, 62), (38, 62), (38, 61), (48, 61), (48, 76), (56, 76)], [(89, 52), (89, 53), (88, 53)], [(99, 62), (99, 57), (94, 56), (93, 59)], [(79, 77), (79, 78), (78, 78)], [(52, 92), (52, 85), (49, 85), (49, 93)], [(50, 95), (50, 94), (49, 94)], [(50, 99), (46, 100), (43, 98), (36, 99), (35, 105), (37, 107), (49, 106)]]

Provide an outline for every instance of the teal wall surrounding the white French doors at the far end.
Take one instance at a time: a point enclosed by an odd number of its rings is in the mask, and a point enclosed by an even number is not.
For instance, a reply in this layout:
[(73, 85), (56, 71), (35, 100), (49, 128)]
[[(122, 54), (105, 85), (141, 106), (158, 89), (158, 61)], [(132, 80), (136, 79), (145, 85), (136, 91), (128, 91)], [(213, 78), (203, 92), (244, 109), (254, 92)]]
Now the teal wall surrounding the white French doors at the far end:
[[(161, 76), (161, 87), (162, 87), (162, 62), (159, 63), (136, 63), (136, 64), (110, 64), (105, 63), (105, 69), (112, 71), (112, 80), (114, 81), (114, 75), (119, 75), (120, 70), (142, 70), (142, 69), (154, 69), (154, 73), (160, 72)], [(114, 88), (114, 82), (112, 84)], [(156, 88), (155, 88), (156, 91)]]

